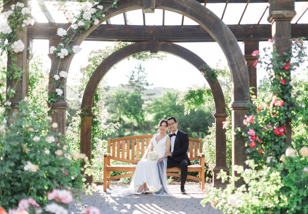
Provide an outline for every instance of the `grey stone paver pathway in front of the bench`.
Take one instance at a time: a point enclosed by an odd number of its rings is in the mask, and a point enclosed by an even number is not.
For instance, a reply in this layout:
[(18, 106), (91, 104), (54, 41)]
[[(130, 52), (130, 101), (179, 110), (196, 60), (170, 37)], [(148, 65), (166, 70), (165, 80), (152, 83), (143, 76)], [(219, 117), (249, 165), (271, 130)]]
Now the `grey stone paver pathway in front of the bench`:
[[(110, 189), (126, 188), (127, 186), (110, 185)], [(215, 210), (210, 205), (203, 207), (200, 201), (203, 199), (200, 188), (195, 185), (186, 185), (187, 195), (180, 193), (179, 185), (170, 185), (174, 197), (159, 197), (152, 194), (134, 194), (125, 197), (111, 197), (110, 193), (103, 191), (103, 186), (97, 187), (97, 192), (86, 196), (80, 193), (81, 201), (74, 200), (69, 206), (71, 214), (83, 213), (87, 207), (95, 206), (100, 209), (102, 214), (132, 213), (132, 214), (220, 214), (222, 212)]]

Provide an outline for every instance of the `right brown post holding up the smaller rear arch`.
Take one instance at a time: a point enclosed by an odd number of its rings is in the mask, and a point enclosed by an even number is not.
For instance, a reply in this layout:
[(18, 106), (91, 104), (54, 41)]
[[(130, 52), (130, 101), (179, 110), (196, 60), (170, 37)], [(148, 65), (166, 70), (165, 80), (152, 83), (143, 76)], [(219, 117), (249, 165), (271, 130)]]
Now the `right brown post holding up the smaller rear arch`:
[(222, 128), (222, 121), (225, 121), (228, 117), (227, 113), (215, 113), (215, 166), (213, 168), (213, 187), (226, 188), (227, 184), (222, 183), (221, 179), (217, 179), (217, 174), (220, 170), (224, 170), (229, 175), (229, 168), (226, 162), (226, 135), (225, 130)]

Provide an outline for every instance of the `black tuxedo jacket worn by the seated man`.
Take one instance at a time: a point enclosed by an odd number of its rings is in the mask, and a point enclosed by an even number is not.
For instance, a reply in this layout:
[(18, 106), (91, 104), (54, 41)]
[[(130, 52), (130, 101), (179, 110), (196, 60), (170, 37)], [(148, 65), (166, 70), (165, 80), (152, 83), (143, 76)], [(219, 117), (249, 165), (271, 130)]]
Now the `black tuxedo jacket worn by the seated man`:
[[(168, 134), (169, 137), (170, 135), (171, 133)], [(178, 130), (174, 141), (173, 156), (170, 156), (168, 158), (173, 158), (176, 161), (187, 159), (188, 165), (191, 165), (186, 153), (188, 150), (188, 145), (189, 145), (188, 134)]]

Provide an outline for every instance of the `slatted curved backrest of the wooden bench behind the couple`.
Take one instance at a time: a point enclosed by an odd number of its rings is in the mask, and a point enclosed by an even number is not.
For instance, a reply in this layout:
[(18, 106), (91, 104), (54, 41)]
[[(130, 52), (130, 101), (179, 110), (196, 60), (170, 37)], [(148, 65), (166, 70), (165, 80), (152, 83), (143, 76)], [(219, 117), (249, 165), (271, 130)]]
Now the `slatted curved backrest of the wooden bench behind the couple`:
[[(111, 159), (129, 163), (138, 163), (144, 155), (145, 149), (151, 142), (153, 135), (136, 135), (108, 138), (107, 150), (111, 153)], [(197, 160), (202, 153), (202, 139), (189, 138), (187, 155), (190, 160)]]

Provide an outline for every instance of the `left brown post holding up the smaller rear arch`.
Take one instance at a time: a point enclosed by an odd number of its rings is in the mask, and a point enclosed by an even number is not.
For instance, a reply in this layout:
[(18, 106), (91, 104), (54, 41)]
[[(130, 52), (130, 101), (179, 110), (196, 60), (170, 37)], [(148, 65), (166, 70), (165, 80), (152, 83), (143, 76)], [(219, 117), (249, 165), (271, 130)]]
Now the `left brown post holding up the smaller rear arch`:
[[(92, 128), (92, 112), (87, 112), (88, 116), (83, 117), (84, 121), (80, 121), (80, 153), (86, 154), (91, 163), (91, 128)], [(105, 176), (105, 175), (104, 175)], [(93, 176), (86, 176), (85, 183), (93, 183)]]

